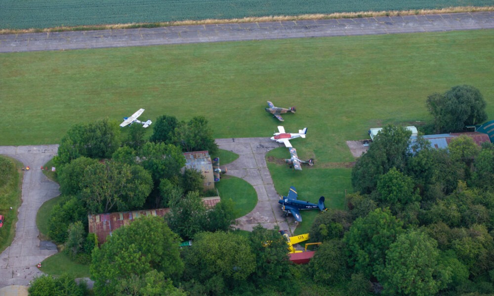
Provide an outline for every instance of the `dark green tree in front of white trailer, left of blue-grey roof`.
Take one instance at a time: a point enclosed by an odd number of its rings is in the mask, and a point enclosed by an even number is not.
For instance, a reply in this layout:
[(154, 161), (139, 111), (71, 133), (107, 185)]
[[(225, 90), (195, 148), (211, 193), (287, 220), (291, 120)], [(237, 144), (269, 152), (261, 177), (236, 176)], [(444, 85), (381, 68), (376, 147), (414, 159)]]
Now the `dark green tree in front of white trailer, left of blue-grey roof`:
[(352, 185), (356, 191), (371, 193), (377, 180), (395, 167), (404, 171), (409, 157), (411, 131), (404, 127), (385, 126), (372, 141), (352, 169)]

